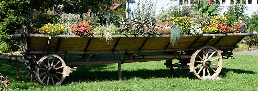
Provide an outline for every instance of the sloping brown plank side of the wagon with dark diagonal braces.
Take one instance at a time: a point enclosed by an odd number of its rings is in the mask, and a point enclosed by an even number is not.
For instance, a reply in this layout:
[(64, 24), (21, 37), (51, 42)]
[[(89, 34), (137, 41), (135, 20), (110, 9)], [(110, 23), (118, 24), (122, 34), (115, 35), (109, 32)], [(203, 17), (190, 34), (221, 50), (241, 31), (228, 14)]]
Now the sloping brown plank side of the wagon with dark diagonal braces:
[[(257, 34), (257, 33), (255, 33)], [(58, 51), (90, 51), (91, 53), (117, 53), (118, 51), (135, 51), (141, 50), (164, 50), (166, 49), (178, 51), (176, 49), (197, 48), (200, 46), (235, 46), (248, 33), (230, 33), (230, 34), (203, 34), (198, 36), (182, 35), (177, 46), (169, 43), (170, 35), (113, 35), (114, 38), (110, 42), (101, 39), (99, 35), (91, 36), (74, 36), (74, 35), (54, 35), (51, 36), (48, 52)], [(30, 51), (44, 51), (48, 43), (48, 37), (43, 34), (27, 34), (30, 38)], [(212, 37), (212, 40), (210, 40)], [(15, 34), (14, 37), (21, 37)], [(58, 40), (60, 44), (58, 45)], [(117, 41), (119, 39), (119, 41)], [(89, 41), (91, 40), (91, 41)], [(209, 41), (210, 40), (210, 41)], [(207, 42), (208, 43), (205, 43)], [(117, 43), (117, 45), (116, 45)], [(87, 46), (88, 45), (88, 46)], [(85, 49), (87, 48), (87, 49)], [(138, 51), (137, 51), (138, 50)], [(169, 51), (164, 50), (164, 51)], [(113, 52), (116, 51), (116, 52)], [(81, 52), (80, 52), (81, 53)], [(120, 52), (118, 52), (120, 53)], [(56, 54), (56, 53), (54, 53)]]

